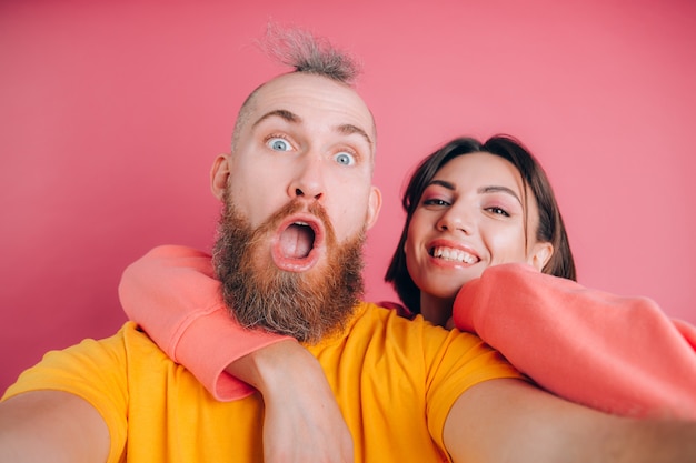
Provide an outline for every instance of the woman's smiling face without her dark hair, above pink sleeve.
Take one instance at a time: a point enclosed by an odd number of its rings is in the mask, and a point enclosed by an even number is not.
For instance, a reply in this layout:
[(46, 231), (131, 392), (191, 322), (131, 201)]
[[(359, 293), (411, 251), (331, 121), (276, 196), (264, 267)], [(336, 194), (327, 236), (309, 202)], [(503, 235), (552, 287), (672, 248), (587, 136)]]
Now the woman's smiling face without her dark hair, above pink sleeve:
[(421, 302), (453, 300), (490, 265), (527, 262), (540, 270), (551, 250), (536, 241), (538, 220), (536, 199), (507, 160), (476, 152), (447, 162), (425, 189), (404, 249)]

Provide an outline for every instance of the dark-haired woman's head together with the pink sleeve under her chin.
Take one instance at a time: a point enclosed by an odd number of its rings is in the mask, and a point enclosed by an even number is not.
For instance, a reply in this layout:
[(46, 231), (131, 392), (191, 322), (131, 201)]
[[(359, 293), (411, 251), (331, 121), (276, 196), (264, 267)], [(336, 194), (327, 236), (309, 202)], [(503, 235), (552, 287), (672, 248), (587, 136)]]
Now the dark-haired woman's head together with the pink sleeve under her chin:
[(696, 330), (575, 282), (550, 183), (518, 141), (459, 139), (418, 167), (387, 271), (415, 313), (477, 333), (543, 387), (622, 415), (696, 417)]

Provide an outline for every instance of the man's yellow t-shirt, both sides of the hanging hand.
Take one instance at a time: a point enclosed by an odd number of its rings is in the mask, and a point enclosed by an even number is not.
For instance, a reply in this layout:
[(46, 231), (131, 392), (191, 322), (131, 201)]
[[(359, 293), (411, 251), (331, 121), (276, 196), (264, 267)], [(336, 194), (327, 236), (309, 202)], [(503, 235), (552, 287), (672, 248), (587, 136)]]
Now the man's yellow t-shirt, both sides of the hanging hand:
[[(351, 431), (357, 462), (446, 461), (443, 429), (467, 387), (519, 378), (477, 336), (362, 303), (345, 332), (308, 348)], [(113, 336), (49, 352), (3, 397), (60, 390), (90, 402), (111, 435), (109, 462), (261, 462), (262, 400), (217, 402), (132, 322)]]

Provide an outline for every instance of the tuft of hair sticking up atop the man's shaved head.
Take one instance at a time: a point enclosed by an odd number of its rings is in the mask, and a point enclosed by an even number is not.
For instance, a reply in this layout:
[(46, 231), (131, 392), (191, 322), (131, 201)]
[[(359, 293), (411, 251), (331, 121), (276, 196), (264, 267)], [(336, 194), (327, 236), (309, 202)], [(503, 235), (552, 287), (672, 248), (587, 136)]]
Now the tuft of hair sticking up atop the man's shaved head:
[(328, 39), (299, 28), (281, 28), (269, 22), (266, 36), (257, 41), (271, 59), (295, 69), (295, 72), (322, 76), (352, 85), (361, 72), (361, 63)]

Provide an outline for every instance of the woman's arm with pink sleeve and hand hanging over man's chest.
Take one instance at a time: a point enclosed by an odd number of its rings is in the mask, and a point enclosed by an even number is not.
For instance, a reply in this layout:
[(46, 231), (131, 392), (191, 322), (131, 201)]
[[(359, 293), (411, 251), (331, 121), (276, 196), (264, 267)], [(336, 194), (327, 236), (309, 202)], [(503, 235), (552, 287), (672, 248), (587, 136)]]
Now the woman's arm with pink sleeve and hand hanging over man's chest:
[(352, 461), (350, 432), (317, 360), (292, 338), (236, 323), (210, 255), (156, 248), (123, 272), (119, 295), (128, 316), (216, 399), (252, 393), (247, 383), (259, 390), (265, 461)]

